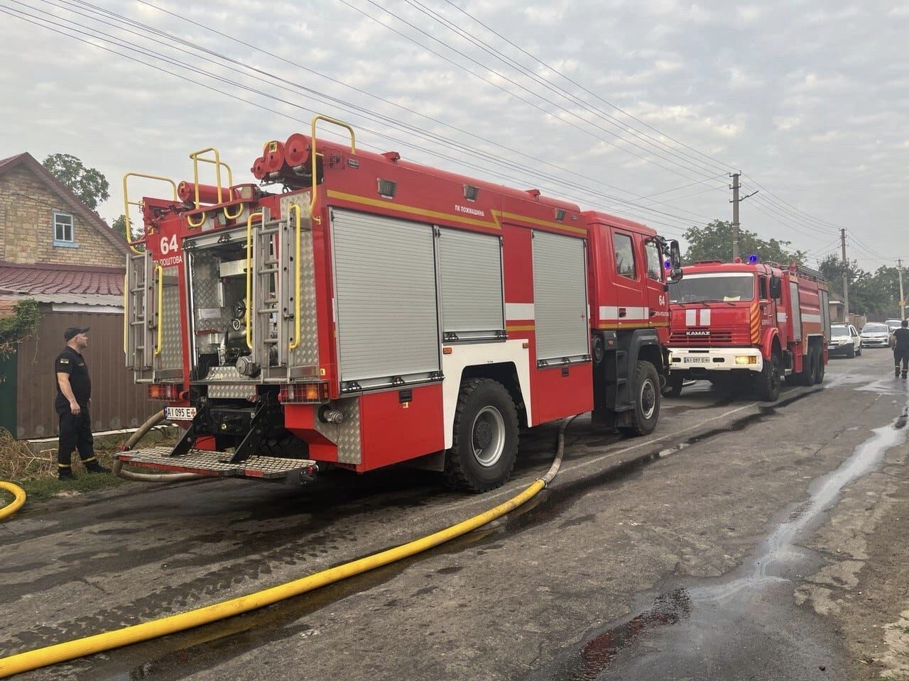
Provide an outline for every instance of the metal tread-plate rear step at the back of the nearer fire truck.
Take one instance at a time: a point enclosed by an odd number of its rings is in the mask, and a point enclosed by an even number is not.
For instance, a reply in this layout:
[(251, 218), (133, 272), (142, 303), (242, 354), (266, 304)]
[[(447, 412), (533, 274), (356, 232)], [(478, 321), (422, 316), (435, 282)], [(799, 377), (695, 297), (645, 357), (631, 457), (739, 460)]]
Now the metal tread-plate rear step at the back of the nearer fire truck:
[(233, 456), (225, 451), (190, 449), (183, 456), (173, 457), (168, 447), (148, 447), (120, 452), (117, 459), (141, 469), (195, 473), (215, 478), (285, 479), (291, 484), (310, 482), (319, 471), (315, 461), (309, 459), (252, 456), (231, 463)]

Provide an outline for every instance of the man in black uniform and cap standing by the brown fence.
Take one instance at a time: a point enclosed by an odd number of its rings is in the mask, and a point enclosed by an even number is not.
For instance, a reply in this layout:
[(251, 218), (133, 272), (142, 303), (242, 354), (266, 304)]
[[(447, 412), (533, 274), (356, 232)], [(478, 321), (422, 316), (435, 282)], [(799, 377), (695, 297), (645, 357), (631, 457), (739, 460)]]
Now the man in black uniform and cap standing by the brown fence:
[[(907, 331), (909, 332), (909, 331)], [(72, 480), (70, 457), (73, 449), (89, 473), (109, 473), (110, 469), (95, 459), (95, 439), (89, 407), (92, 401), (92, 380), (82, 351), (88, 347), (88, 327), (71, 326), (63, 332), (66, 347), (54, 360), (57, 377), (57, 396), (54, 409), (60, 417), (60, 444), (57, 448), (57, 470), (61, 480)]]

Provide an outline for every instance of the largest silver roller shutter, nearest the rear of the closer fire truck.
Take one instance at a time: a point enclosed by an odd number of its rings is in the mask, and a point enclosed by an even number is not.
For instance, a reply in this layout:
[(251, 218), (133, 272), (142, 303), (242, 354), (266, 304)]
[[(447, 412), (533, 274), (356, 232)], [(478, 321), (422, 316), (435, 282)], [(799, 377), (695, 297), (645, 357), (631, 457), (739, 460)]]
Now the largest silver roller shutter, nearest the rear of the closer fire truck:
[(433, 227), (332, 212), (341, 380), (439, 370)]

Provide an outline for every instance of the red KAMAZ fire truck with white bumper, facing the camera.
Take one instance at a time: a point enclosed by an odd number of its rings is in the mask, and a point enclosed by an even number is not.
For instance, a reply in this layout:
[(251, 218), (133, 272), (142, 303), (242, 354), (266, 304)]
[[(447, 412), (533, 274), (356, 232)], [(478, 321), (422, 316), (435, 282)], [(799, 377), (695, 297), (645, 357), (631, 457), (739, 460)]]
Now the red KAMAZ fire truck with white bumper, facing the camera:
[(686, 379), (731, 387), (746, 380), (774, 401), (780, 382), (824, 380), (829, 293), (821, 275), (793, 263), (695, 262), (670, 287), (668, 394)]

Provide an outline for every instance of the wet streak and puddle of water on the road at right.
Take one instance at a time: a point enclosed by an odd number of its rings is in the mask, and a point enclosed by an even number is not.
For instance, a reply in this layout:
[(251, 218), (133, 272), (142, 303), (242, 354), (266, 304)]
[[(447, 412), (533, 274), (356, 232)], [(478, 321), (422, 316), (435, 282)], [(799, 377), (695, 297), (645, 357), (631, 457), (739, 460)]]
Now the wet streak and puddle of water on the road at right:
[(794, 581), (822, 560), (796, 538), (824, 521), (843, 488), (880, 466), (906, 441), (909, 407), (893, 424), (874, 429), (832, 473), (815, 479), (808, 498), (789, 510), (753, 558), (704, 586), (667, 590), (633, 617), (588, 638), (530, 679), (836, 679), (829, 632), (818, 617), (794, 607)]

